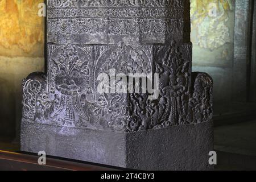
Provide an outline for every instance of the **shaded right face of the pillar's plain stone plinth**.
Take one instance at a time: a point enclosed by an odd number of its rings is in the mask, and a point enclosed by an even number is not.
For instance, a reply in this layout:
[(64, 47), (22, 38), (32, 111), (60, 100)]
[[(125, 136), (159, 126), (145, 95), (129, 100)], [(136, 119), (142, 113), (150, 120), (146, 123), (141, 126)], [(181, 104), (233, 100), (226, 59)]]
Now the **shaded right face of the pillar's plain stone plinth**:
[(127, 135), (127, 167), (146, 170), (212, 170), (213, 123), (173, 126)]

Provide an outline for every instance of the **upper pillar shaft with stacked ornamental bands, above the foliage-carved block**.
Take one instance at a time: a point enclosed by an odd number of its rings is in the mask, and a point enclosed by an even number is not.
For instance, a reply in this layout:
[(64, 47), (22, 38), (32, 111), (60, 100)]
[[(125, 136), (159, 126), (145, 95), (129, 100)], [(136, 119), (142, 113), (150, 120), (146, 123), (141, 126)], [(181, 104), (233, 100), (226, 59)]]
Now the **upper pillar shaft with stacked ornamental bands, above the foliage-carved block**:
[(52, 43), (164, 43), (184, 28), (181, 0), (52, 0), (47, 12)]

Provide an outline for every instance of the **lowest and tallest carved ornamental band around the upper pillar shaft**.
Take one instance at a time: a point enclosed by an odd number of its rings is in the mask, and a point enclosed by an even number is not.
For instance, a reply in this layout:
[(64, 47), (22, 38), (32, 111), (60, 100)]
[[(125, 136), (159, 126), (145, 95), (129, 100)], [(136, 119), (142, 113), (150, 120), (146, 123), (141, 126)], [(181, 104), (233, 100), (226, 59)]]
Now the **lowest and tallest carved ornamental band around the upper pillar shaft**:
[(119, 19), (119, 18), (79, 18), (49, 19), (48, 28), (51, 34), (95, 34), (144, 35), (150, 33), (180, 34), (183, 28), (181, 19)]

